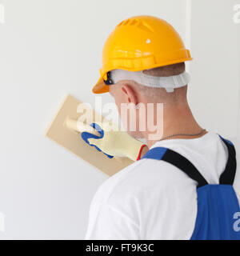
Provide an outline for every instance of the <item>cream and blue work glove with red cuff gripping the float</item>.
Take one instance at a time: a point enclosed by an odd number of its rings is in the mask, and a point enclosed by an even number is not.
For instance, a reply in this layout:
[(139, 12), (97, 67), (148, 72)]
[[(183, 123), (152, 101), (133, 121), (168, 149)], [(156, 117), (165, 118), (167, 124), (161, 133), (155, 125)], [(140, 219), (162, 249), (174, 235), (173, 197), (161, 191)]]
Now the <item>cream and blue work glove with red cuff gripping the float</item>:
[(109, 124), (112, 123), (105, 125), (105, 123), (93, 122), (90, 126), (98, 130), (100, 136), (83, 131), (82, 139), (90, 146), (95, 146), (98, 151), (102, 151), (108, 158), (127, 157), (133, 161), (139, 160), (142, 148), (146, 145), (132, 138), (126, 131), (120, 130), (117, 126), (111, 130), (107, 129), (110, 127)]

